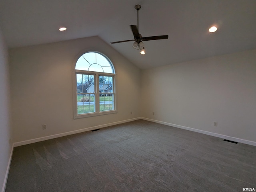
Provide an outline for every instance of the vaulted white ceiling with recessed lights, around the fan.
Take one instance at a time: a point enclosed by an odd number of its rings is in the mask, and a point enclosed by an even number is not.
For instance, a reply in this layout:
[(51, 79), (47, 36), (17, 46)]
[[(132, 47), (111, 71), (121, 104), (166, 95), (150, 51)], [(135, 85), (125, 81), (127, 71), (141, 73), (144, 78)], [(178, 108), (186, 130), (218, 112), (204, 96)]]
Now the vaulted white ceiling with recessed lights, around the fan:
[[(129, 25), (146, 54), (132, 48)], [(132, 63), (146, 69), (256, 48), (256, 0), (1, 0), (0, 28), (9, 48), (98, 35)], [(215, 33), (208, 28), (217, 25)], [(66, 31), (58, 31), (66, 26)]]

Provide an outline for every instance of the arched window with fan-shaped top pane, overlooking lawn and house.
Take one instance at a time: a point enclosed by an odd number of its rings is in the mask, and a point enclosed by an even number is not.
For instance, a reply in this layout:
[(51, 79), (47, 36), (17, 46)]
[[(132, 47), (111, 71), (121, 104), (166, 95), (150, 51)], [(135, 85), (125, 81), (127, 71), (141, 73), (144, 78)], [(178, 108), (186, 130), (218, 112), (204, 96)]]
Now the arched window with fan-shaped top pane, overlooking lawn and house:
[(84, 53), (74, 73), (74, 118), (116, 113), (115, 70), (105, 55)]

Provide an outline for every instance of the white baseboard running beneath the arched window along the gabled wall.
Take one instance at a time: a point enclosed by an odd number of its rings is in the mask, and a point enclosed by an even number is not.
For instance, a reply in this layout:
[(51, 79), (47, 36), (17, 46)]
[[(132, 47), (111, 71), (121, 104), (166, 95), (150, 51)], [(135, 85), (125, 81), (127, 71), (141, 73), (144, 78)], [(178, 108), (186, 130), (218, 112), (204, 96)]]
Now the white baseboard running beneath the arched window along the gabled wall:
[(56, 134), (56, 135), (49, 135), (49, 136), (46, 136), (46, 137), (40, 137), (40, 138), (36, 138), (36, 139), (20, 141), (20, 142), (13, 143), (13, 147), (18, 147), (18, 146), (21, 146), (21, 145), (27, 145), (27, 144), (30, 144), (30, 143), (36, 143), (36, 142), (39, 142), (39, 141), (45, 141), (45, 140), (48, 140), (48, 139), (54, 139), (54, 138), (57, 138), (57, 137), (63, 137), (63, 136), (72, 135), (72, 134), (76, 134), (76, 133), (82, 133), (82, 132), (85, 132), (85, 131), (100, 129), (100, 128), (103, 128), (103, 127), (109, 127), (109, 126), (112, 126), (112, 125), (118, 125), (118, 124), (121, 124), (121, 123), (127, 123), (127, 122), (130, 122), (130, 121), (135, 121), (135, 120), (140, 120), (140, 119), (141, 118), (133, 118), (133, 119), (129, 119), (129, 120), (116, 121), (116, 122), (107, 123), (107, 124), (104, 124), (104, 125), (97, 125), (97, 126), (94, 126), (94, 127), (87, 127), (87, 128), (78, 129), (78, 130), (75, 130), (75, 131), (69, 131), (69, 132), (66, 132), (66, 133), (59, 133), (59, 134)]

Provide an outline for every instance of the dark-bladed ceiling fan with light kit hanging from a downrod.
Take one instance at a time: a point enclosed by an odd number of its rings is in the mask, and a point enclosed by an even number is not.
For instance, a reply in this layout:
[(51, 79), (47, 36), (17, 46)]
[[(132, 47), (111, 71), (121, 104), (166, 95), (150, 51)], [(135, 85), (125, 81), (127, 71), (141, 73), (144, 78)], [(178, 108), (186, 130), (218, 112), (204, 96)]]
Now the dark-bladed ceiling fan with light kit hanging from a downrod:
[[(132, 45), (135, 49), (144, 49), (144, 43), (142, 41), (152, 41), (152, 40), (158, 40), (158, 39), (168, 39), (168, 35), (159, 35), (159, 36), (151, 36), (151, 37), (142, 37), (142, 35), (139, 33), (139, 10), (141, 8), (140, 5), (134, 6), (134, 8), (137, 10), (137, 20), (138, 20), (138, 25), (130, 25), (132, 29), (132, 34), (134, 36), (134, 39), (131, 40), (125, 40), (125, 41), (115, 41), (111, 42), (112, 44), (114, 43), (123, 43), (123, 42), (128, 42), (128, 41), (135, 41)], [(145, 54), (145, 52), (141, 52), (142, 54)]]

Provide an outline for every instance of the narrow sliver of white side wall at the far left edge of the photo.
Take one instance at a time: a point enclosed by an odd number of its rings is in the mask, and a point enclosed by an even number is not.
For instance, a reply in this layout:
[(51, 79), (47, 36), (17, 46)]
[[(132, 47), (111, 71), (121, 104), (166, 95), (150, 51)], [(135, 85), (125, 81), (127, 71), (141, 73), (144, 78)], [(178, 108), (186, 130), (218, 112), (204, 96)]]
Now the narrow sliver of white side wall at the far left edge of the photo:
[(9, 125), (8, 53), (0, 30), (0, 189), (4, 190), (5, 175), (10, 157), (11, 130)]

